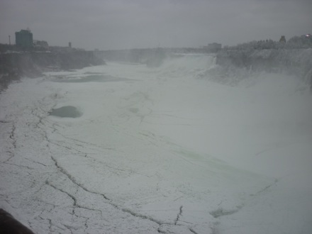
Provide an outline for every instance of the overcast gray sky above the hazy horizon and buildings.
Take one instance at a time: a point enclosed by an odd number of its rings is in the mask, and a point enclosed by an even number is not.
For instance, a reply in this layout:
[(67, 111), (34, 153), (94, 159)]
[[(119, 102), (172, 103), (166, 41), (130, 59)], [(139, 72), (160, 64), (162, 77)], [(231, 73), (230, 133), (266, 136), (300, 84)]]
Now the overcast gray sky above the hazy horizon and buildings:
[(312, 0), (0, 0), (0, 43), (87, 50), (200, 47), (312, 33)]

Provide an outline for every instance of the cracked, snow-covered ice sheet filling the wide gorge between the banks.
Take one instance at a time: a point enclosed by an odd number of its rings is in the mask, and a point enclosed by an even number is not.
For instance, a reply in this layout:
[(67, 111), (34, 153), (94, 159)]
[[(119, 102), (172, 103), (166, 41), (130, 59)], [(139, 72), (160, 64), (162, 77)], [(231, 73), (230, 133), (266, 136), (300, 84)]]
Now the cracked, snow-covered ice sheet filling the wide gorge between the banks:
[(211, 82), (214, 62), (11, 84), (0, 207), (35, 233), (311, 233), (311, 93), (283, 74)]

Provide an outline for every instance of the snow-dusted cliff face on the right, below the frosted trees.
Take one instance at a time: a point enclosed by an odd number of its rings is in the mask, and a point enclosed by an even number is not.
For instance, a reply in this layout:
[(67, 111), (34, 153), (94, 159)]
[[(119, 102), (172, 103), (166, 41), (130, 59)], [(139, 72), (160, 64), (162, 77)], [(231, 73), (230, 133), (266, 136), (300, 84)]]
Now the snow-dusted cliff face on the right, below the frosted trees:
[[(284, 73), (295, 75), (312, 87), (311, 48), (292, 50), (225, 49), (218, 52), (216, 64), (221, 65), (226, 75), (234, 74), (238, 79), (242, 76), (246, 77), (247, 72)], [(240, 68), (240, 71), (236, 68)]]

